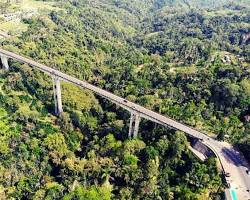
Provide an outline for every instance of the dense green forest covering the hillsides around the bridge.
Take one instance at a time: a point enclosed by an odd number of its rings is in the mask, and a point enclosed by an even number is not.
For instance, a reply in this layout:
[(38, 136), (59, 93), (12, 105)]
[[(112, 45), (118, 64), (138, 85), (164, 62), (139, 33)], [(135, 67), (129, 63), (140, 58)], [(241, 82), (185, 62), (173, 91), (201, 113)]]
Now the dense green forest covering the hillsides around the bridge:
[[(8, 6), (8, 5), (5, 5)], [(1, 48), (165, 114), (250, 160), (249, 1), (57, 0)], [(8, 8), (6, 8), (8, 9)], [(216, 159), (185, 134), (142, 120), (18, 62), (0, 72), (0, 199), (221, 199)]]

